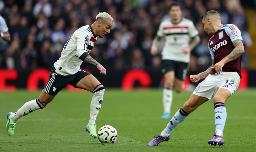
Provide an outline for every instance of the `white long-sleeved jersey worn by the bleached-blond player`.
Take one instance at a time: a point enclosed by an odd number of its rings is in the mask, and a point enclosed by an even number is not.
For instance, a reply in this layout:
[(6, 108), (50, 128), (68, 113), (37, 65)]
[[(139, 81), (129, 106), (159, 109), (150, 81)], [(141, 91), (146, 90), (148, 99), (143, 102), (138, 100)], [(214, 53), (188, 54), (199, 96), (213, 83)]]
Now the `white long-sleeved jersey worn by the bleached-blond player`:
[(76, 30), (64, 45), (60, 59), (53, 64), (56, 72), (61, 75), (75, 74), (83, 62), (79, 57), (85, 52), (90, 53), (96, 40), (91, 25)]

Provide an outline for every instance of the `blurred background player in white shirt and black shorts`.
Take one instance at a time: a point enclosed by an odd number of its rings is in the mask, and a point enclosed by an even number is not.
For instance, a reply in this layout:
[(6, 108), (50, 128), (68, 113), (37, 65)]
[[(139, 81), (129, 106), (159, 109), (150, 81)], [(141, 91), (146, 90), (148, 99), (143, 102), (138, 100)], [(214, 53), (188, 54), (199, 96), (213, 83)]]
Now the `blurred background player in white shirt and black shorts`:
[[(162, 51), (162, 73), (164, 75), (163, 107), (161, 118), (170, 118), (174, 87), (175, 91), (182, 91), (183, 82), (188, 72), (190, 51), (200, 42), (198, 31), (192, 21), (182, 18), (181, 5), (172, 3), (169, 7), (171, 20), (164, 20), (153, 40), (151, 54), (156, 55), (160, 40), (165, 36)], [(192, 41), (190, 42), (190, 38)]]

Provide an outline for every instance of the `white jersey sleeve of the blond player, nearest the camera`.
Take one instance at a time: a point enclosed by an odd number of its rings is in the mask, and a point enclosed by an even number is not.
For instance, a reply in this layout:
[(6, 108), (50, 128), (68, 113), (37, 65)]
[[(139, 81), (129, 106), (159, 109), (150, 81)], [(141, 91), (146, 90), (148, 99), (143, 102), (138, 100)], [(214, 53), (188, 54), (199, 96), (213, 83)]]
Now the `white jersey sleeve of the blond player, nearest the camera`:
[(76, 55), (80, 58), (80, 56), (87, 52), (88, 41), (91, 38), (89, 32), (81, 29), (76, 31), (76, 38), (77, 38), (77, 46), (76, 46)]

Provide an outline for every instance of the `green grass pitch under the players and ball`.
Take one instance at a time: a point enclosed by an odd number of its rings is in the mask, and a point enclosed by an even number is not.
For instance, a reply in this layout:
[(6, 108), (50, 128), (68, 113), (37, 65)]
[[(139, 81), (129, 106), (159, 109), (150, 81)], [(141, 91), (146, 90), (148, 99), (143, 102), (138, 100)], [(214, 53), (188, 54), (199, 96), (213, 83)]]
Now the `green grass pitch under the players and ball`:
[[(160, 134), (169, 122), (169, 119), (160, 118), (163, 113), (162, 89), (123, 92), (120, 89), (106, 88), (96, 124), (116, 128), (118, 137), (114, 144), (102, 144), (85, 132), (92, 93), (66, 90), (62, 90), (45, 109), (22, 117), (16, 123), (14, 136), (8, 136), (5, 131), (6, 114), (15, 112), (25, 102), (36, 99), (40, 92), (0, 92), (1, 152), (249, 152), (256, 148), (256, 89), (236, 91), (225, 103), (225, 145), (221, 147), (208, 145), (215, 129), (213, 100), (200, 106), (179, 124), (168, 142), (148, 147), (148, 142), (154, 135)], [(191, 93), (174, 93), (172, 116)]]

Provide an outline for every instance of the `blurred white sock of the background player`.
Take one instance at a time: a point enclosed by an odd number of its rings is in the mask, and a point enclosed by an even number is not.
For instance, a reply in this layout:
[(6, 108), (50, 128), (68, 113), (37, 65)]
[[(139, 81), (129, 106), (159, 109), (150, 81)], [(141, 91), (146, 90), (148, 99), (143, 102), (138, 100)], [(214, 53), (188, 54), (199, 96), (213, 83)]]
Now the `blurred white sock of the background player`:
[(172, 106), (172, 88), (164, 86), (163, 90), (163, 106), (164, 106), (164, 114), (171, 113)]

